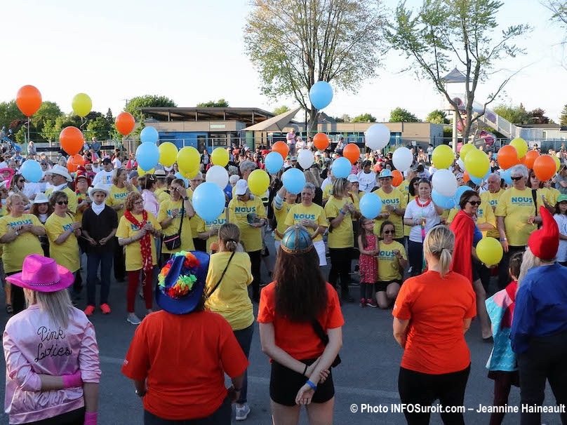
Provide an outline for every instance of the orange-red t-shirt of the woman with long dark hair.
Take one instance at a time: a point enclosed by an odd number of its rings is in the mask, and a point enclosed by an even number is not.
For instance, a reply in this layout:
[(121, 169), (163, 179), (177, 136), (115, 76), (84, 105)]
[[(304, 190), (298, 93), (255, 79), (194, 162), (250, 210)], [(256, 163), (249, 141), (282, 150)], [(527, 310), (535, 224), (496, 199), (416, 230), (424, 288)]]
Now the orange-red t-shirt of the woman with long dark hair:
[[(337, 291), (329, 283), (327, 288), (327, 309), (318, 320), (326, 332), (328, 329), (340, 328), (345, 324), (340, 311)], [(311, 323), (297, 323), (276, 316), (276, 283), (272, 282), (260, 292), (260, 307), (258, 309), (259, 323), (273, 323), (276, 346), (286, 351), (296, 360), (317, 358), (325, 350), (321, 339), (317, 337)]]

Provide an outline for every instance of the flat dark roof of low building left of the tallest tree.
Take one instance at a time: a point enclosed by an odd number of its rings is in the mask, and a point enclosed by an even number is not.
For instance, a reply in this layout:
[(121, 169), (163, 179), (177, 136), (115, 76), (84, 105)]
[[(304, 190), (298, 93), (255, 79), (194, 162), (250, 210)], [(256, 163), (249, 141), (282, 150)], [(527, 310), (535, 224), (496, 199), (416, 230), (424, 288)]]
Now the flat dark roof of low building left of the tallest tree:
[(148, 107), (140, 111), (157, 121), (241, 121), (249, 125), (274, 116), (259, 108)]

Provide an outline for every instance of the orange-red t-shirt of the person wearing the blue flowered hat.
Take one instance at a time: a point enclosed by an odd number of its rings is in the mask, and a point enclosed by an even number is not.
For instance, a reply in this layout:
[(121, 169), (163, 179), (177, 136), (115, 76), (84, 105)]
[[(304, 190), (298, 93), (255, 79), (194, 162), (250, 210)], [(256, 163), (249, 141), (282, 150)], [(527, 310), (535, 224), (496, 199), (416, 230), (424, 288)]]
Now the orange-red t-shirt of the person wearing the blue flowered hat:
[(248, 360), (228, 322), (201, 311), (158, 311), (136, 329), (122, 373), (147, 378), (144, 408), (168, 420), (207, 417), (227, 395), (225, 373), (241, 375)]

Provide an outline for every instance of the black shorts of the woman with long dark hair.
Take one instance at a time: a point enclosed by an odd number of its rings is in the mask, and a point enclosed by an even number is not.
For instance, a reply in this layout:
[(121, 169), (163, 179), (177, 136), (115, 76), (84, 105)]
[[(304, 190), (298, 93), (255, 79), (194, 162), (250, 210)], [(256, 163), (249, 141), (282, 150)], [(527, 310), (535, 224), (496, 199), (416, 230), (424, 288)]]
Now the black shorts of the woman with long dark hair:
[[(316, 359), (302, 360), (310, 365)], [(329, 376), (323, 384), (319, 384), (312, 398), (312, 403), (325, 403), (335, 396), (333, 385), (333, 372), (329, 370)], [(295, 396), (299, 389), (307, 382), (307, 378), (298, 372), (288, 369), (279, 363), (272, 362), (272, 373), (269, 377), (269, 398), (284, 406), (295, 406)]]

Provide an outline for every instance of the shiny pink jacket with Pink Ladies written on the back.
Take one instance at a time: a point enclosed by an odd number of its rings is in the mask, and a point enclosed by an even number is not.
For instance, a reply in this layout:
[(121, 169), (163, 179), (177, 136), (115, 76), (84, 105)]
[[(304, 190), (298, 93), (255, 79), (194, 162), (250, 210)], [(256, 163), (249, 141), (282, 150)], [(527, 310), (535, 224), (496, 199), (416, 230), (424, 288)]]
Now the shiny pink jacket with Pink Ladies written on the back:
[(95, 328), (83, 311), (69, 311), (69, 326), (54, 325), (38, 304), (13, 316), (4, 330), (6, 398), (10, 424), (41, 421), (84, 406), (83, 389), (40, 391), (38, 374), (70, 375), (81, 370), (83, 382), (99, 382)]

